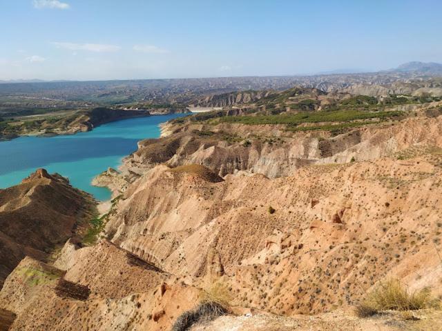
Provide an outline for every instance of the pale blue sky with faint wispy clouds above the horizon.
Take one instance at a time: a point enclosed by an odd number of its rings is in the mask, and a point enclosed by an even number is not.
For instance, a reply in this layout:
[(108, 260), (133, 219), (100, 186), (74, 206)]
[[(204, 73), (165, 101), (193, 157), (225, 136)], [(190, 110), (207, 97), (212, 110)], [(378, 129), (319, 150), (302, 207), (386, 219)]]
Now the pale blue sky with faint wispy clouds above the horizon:
[(441, 0), (0, 0), (0, 79), (150, 79), (442, 62)]

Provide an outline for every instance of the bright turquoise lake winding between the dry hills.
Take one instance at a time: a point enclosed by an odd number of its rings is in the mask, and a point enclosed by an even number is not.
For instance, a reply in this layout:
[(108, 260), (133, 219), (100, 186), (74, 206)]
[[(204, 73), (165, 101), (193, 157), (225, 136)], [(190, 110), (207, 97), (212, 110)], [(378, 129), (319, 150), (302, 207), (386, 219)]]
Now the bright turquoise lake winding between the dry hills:
[(137, 150), (137, 141), (160, 137), (160, 123), (186, 114), (158, 115), (107, 123), (89, 132), (56, 137), (19, 137), (0, 142), (0, 188), (17, 185), (37, 168), (58, 172), (101, 201), (107, 188), (90, 185), (108, 167)]

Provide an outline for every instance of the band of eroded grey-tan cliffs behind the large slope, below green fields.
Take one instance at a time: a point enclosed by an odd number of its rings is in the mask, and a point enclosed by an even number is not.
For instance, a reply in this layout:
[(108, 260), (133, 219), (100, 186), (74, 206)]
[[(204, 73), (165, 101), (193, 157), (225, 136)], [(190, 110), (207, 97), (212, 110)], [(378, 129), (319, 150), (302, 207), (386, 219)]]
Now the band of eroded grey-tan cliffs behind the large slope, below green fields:
[(356, 128), (336, 137), (327, 132), (287, 132), (283, 126), (225, 123), (175, 126), (175, 130), (169, 125), (168, 130), (175, 133), (140, 141), (138, 150), (124, 159), (126, 181), (160, 163), (171, 167), (200, 164), (221, 177), (245, 171), (278, 178), (314, 163), (373, 160), (419, 144), (442, 147), (439, 112)]

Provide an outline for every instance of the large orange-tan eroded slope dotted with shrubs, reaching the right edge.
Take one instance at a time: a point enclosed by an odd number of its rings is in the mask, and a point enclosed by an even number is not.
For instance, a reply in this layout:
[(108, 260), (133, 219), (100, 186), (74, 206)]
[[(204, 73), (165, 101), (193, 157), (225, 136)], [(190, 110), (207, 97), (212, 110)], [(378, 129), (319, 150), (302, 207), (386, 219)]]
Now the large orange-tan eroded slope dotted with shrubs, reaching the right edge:
[(354, 303), (391, 273), (419, 283), (432, 270), (427, 285), (438, 285), (442, 154), (429, 150), (273, 180), (212, 183), (159, 166), (126, 191), (106, 230), (182, 276), (204, 275), (214, 249), (236, 303), (277, 314)]

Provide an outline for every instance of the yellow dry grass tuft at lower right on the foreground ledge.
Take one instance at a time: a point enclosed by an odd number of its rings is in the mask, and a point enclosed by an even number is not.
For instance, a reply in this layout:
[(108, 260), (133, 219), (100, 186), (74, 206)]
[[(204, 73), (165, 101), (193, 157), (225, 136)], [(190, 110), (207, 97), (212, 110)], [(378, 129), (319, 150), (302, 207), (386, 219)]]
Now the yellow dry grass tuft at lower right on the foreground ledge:
[(390, 279), (379, 283), (367, 294), (367, 297), (356, 306), (356, 315), (369, 317), (382, 310), (419, 310), (436, 308), (439, 304), (439, 300), (432, 297), (430, 288), (410, 292), (398, 279)]

